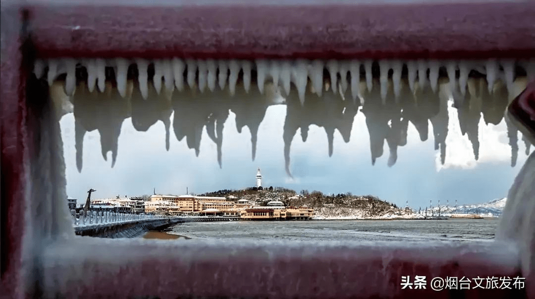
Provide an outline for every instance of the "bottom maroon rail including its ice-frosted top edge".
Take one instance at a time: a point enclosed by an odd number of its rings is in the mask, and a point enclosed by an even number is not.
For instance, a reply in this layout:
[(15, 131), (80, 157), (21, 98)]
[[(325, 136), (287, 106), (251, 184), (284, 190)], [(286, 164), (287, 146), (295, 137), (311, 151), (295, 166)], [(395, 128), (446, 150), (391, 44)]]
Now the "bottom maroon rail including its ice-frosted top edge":
[[(74, 254), (73, 254), (74, 252)], [(448, 291), (401, 290), (401, 275), (516, 277), (510, 243), (240, 242), (76, 237), (43, 252), (49, 297), (392, 298), (411, 293), (449, 297)], [(466, 295), (518, 298), (500, 290)], [(462, 292), (459, 293), (462, 295)], [(507, 296), (506, 296), (507, 297)]]

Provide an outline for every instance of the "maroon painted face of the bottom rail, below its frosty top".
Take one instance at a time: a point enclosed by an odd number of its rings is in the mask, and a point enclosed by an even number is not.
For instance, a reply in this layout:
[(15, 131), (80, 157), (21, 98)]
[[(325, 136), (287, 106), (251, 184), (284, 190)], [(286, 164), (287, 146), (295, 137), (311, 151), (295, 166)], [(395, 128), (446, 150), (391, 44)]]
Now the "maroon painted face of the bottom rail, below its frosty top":
[[(381, 252), (369, 259), (360, 257), (366, 252), (346, 249), (333, 255), (334, 252), (337, 251), (325, 251), (323, 255), (308, 259), (289, 256), (271, 260), (244, 252), (242, 257), (200, 258), (193, 263), (185, 262), (180, 255), (173, 258), (163, 255), (129, 260), (120, 267), (91, 261), (73, 269), (65, 266), (67, 263), (58, 263), (53, 272), (58, 276), (86, 273), (85, 281), (74, 280), (63, 289), (66, 297), (78, 298), (526, 298), (524, 290), (514, 288), (431, 289), (433, 277), (522, 276), (517, 269), (471, 260), (470, 255), (463, 260), (437, 257), (423, 263), (406, 260), (411, 254), (403, 250), (398, 250), (388, 260), (377, 258)], [(425, 289), (401, 289), (402, 275), (409, 275), (411, 281), (415, 275), (426, 276), (427, 286)]]

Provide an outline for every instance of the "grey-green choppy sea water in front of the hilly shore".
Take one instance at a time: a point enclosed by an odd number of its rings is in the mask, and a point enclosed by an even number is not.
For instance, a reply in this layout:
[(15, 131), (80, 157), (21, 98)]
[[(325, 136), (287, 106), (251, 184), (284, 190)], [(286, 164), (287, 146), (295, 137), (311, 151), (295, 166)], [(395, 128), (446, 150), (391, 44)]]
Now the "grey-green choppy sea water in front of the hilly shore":
[[(197, 239), (318, 241), (490, 241), (496, 219), (223, 221), (174, 225), (165, 232)], [(185, 240), (180, 238), (180, 240)]]

